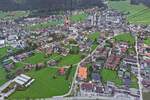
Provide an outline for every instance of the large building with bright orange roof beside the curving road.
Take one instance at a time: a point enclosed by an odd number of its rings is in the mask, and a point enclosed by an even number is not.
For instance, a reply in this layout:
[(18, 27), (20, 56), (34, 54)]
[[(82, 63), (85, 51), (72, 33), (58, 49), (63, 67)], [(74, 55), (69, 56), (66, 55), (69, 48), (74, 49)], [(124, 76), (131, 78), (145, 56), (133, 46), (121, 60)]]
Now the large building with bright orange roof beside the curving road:
[(87, 79), (87, 68), (86, 67), (79, 68), (78, 78), (80, 78), (81, 80)]

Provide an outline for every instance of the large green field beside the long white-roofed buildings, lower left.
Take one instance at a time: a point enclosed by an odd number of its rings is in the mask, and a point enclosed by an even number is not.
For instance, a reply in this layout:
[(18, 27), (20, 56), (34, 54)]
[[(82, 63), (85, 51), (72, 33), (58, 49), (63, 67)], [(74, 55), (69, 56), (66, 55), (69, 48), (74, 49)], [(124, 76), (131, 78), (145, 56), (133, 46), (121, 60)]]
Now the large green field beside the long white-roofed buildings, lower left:
[(67, 93), (70, 81), (65, 80), (65, 76), (57, 76), (56, 79), (53, 79), (56, 73), (57, 69), (52, 68), (27, 73), (35, 79), (33, 84), (25, 91), (16, 91), (9, 99), (48, 98)]

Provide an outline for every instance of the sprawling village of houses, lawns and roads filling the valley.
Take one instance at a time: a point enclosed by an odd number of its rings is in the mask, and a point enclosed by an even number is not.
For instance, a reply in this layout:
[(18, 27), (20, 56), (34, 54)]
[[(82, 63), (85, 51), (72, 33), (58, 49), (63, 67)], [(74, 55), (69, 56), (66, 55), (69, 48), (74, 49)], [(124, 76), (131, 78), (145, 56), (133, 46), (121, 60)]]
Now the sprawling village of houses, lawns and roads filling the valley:
[(150, 92), (149, 41), (150, 25), (108, 8), (0, 20), (0, 100), (141, 100)]

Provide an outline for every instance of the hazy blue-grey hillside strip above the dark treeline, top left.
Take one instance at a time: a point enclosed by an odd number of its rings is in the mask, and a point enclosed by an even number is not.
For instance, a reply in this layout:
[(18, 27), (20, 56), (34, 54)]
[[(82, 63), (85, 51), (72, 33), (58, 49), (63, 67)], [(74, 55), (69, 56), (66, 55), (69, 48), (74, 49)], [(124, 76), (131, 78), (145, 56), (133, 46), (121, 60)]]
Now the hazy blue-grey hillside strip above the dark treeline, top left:
[(0, 10), (62, 10), (101, 5), (101, 0), (0, 0)]

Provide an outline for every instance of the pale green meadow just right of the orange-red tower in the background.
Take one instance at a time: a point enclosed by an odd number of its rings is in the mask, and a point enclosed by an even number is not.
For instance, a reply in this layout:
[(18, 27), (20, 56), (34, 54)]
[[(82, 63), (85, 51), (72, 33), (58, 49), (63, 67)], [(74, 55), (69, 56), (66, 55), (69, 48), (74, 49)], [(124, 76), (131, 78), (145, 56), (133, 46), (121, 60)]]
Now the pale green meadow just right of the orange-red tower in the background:
[(86, 18), (87, 18), (86, 13), (80, 13), (80, 14), (70, 16), (70, 20), (73, 22), (81, 22), (84, 21)]

